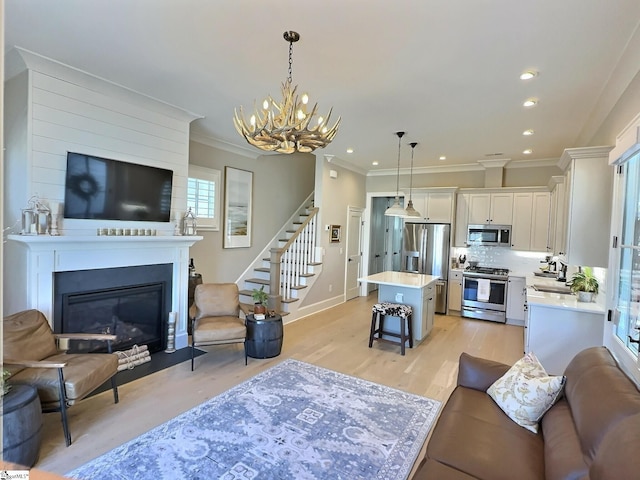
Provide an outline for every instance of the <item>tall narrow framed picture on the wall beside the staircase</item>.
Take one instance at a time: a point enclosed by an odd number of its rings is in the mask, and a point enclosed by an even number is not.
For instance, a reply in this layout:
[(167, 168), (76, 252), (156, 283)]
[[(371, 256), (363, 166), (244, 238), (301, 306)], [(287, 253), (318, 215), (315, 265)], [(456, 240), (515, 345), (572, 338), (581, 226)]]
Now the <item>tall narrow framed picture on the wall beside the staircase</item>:
[(224, 167), (223, 248), (251, 246), (253, 172)]

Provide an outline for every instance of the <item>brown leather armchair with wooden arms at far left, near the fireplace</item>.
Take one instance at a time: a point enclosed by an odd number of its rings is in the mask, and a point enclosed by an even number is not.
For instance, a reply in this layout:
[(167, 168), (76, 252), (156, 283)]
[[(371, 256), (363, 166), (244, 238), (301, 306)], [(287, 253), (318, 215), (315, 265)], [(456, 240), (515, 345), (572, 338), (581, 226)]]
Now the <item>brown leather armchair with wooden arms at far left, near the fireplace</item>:
[[(118, 356), (111, 353), (115, 335), (54, 334), (38, 310), (25, 310), (4, 317), (3, 362), (11, 372), (11, 383), (32, 385), (38, 390), (42, 411), (59, 411), (67, 447), (71, 433), (67, 407), (79, 402), (111, 379), (113, 398), (118, 403)], [(104, 340), (109, 353), (67, 354), (58, 340)]]

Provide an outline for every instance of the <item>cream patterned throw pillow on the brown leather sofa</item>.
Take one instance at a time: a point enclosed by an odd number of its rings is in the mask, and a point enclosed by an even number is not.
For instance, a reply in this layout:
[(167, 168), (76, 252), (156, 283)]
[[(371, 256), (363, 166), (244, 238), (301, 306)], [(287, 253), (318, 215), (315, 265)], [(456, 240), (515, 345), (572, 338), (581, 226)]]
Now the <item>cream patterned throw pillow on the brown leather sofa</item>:
[(487, 393), (518, 425), (538, 433), (538, 421), (556, 402), (564, 376), (550, 376), (533, 352), (518, 360)]

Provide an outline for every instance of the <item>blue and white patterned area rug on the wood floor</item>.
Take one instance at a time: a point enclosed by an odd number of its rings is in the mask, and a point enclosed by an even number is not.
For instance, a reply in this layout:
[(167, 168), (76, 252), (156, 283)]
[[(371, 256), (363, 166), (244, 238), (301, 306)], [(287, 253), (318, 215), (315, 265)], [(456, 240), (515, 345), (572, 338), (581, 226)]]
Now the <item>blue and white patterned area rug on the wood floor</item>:
[(285, 360), (92, 460), (82, 479), (406, 479), (440, 402)]

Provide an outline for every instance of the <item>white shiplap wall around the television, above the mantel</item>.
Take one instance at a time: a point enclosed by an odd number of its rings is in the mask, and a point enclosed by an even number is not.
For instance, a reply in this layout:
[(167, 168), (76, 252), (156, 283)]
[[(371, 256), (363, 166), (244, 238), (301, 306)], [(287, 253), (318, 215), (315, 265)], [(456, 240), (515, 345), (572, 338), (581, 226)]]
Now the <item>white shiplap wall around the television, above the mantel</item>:
[[(5, 226), (32, 195), (52, 207), (64, 200), (68, 151), (173, 170), (171, 219), (186, 209), (189, 124), (198, 115), (22, 49), (7, 55), (19, 71), (5, 83)], [(16, 63), (18, 66), (16, 66)], [(20, 63), (24, 66), (20, 71)], [(173, 222), (64, 220), (64, 235), (100, 227), (173, 232)]]

